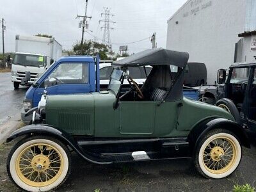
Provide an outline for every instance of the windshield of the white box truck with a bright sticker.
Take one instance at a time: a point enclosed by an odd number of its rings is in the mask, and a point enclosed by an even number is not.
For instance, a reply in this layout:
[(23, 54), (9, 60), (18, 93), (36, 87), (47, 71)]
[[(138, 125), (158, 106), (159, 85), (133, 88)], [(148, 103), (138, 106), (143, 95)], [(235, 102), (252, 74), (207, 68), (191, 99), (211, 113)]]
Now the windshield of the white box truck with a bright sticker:
[(23, 65), (23, 66), (43, 67), (44, 56), (35, 55), (35, 54), (15, 54), (13, 59), (13, 64)]

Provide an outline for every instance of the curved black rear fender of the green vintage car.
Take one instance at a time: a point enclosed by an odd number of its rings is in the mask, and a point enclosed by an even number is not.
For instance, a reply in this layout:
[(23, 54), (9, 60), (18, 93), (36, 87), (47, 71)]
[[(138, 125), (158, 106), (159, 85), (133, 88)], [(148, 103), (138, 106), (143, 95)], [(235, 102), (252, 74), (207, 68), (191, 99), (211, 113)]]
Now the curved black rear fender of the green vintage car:
[[(250, 140), (246, 134), (245, 129), (232, 120), (226, 118), (208, 118), (203, 120), (199, 124), (193, 127), (188, 136), (188, 141), (191, 149), (195, 149), (202, 137), (212, 129), (227, 129), (228, 131), (234, 132), (241, 141), (244, 147), (250, 148)], [(193, 151), (192, 150), (192, 151)]]

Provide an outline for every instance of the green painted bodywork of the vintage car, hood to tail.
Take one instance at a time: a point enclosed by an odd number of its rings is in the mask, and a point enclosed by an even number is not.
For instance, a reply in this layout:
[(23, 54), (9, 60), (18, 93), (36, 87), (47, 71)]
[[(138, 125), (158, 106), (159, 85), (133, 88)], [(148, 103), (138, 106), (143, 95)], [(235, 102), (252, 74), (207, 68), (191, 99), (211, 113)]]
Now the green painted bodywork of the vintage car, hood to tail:
[(111, 91), (48, 96), (46, 123), (76, 135), (164, 138), (186, 137), (206, 118), (234, 120), (221, 108), (186, 98), (163, 103), (122, 101), (117, 109), (114, 102)]

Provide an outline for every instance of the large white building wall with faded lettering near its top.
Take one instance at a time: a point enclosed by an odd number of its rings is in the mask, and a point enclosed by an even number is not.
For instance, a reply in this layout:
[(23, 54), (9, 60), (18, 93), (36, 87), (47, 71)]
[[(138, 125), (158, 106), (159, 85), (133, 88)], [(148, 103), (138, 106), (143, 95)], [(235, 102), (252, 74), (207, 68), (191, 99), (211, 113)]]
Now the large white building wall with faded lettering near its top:
[(244, 31), (244, 0), (189, 0), (168, 20), (167, 49), (189, 52), (189, 61), (207, 67), (207, 83), (219, 68), (234, 62), (235, 44)]

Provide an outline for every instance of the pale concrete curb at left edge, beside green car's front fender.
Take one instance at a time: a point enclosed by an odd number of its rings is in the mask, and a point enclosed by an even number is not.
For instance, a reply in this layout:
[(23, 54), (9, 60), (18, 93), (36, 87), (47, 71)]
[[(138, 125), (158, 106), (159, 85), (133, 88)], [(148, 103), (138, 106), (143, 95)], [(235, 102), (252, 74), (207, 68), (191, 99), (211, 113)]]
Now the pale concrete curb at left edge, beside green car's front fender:
[(0, 144), (6, 141), (6, 138), (18, 129), (22, 125), (22, 121), (20, 120), (20, 113), (17, 113), (15, 116), (10, 118), (6, 124), (1, 125), (0, 127)]

